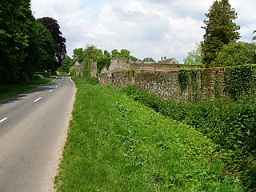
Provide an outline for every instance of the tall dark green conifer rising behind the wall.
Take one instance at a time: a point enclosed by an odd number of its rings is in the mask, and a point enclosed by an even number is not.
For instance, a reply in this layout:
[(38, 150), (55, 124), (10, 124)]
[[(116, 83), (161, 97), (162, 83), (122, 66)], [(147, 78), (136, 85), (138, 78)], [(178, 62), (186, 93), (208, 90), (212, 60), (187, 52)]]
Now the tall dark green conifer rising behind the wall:
[(221, 0), (220, 2), (216, 0), (213, 6), (210, 6), (206, 17), (208, 20), (203, 21), (206, 26), (202, 27), (206, 30), (206, 34), (203, 36), (204, 40), (201, 46), (203, 62), (206, 67), (209, 67), (222, 46), (240, 38), (238, 33), (240, 26), (233, 22), (238, 16), (234, 8), (231, 8), (228, 0)]

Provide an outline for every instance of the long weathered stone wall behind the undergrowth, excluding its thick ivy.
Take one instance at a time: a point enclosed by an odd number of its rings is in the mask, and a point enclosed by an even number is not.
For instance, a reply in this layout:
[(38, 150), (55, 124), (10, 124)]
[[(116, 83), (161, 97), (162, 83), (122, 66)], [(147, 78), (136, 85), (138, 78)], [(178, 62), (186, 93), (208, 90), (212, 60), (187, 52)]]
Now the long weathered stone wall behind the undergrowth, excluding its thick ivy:
[[(198, 70), (196, 81), (192, 82), (190, 77), (188, 86), (183, 92), (178, 82), (178, 71), (144, 71), (136, 73), (132, 70), (126, 70), (98, 74), (98, 78), (101, 83), (113, 82), (119, 86), (134, 84), (157, 94), (161, 98), (196, 101), (206, 98), (226, 97), (225, 70), (225, 68)], [(256, 70), (254, 83), (256, 85)]]

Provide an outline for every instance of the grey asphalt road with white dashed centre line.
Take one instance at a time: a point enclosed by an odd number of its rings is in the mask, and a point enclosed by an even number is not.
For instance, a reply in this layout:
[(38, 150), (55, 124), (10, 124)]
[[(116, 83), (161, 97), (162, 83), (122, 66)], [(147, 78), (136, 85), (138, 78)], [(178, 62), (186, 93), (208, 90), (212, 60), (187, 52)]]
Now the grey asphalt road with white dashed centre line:
[(74, 94), (74, 82), (58, 77), (0, 102), (1, 192), (53, 190)]

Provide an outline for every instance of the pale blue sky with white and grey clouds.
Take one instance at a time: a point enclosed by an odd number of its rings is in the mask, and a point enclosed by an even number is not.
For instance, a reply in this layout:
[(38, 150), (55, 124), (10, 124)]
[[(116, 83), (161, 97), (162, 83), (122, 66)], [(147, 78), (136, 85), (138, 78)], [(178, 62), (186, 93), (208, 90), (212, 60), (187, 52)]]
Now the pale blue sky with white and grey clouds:
[[(87, 44), (101, 50), (130, 50), (139, 59), (177, 58), (203, 40), (203, 20), (214, 0), (31, 0), (35, 18), (58, 21), (67, 54)], [(255, 0), (230, 0), (240, 41), (252, 42)]]

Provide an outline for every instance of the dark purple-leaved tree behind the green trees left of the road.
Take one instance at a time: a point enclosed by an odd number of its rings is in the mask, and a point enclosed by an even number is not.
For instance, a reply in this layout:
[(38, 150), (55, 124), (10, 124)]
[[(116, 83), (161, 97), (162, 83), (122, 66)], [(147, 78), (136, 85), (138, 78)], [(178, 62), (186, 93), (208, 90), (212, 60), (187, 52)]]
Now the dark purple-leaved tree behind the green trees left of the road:
[(54, 39), (54, 67), (52, 70), (57, 70), (58, 66), (62, 65), (62, 60), (66, 55), (66, 38), (62, 37), (62, 32), (60, 31), (60, 26), (58, 21), (54, 18), (39, 18), (39, 22), (46, 26), (50, 30), (50, 34)]

